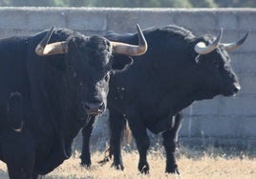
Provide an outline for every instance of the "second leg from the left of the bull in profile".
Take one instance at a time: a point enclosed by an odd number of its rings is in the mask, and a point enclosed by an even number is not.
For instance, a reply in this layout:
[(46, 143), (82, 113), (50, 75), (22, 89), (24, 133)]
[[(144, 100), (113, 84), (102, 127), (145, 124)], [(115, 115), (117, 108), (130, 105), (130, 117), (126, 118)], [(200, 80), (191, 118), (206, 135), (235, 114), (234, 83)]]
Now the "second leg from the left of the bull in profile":
[(124, 169), (121, 157), (121, 140), (126, 126), (126, 119), (124, 119), (122, 114), (109, 110), (109, 125), (111, 132), (110, 155), (114, 155), (112, 167), (115, 167), (116, 169)]

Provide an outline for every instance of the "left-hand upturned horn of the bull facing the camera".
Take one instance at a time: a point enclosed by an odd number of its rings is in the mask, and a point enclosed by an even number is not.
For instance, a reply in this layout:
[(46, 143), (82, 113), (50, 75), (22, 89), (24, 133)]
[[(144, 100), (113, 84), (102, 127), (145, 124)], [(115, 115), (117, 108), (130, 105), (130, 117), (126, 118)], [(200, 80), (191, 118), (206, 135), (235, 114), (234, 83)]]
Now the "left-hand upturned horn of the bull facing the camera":
[(47, 32), (46, 36), (36, 46), (35, 53), (37, 55), (46, 56), (46, 55), (52, 55), (52, 54), (63, 54), (68, 51), (68, 46), (65, 41), (48, 44), (53, 34), (53, 30), (54, 30), (54, 27)]

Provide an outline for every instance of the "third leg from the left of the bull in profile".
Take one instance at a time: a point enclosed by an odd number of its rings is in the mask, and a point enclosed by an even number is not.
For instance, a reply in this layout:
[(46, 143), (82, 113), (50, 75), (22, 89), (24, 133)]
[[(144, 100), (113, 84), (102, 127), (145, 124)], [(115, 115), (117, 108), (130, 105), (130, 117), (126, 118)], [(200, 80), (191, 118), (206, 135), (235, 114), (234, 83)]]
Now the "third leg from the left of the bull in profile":
[(135, 137), (137, 148), (139, 150), (138, 169), (141, 173), (149, 173), (149, 164), (147, 162), (147, 150), (149, 149), (150, 140), (147, 135), (146, 127), (139, 120), (129, 121), (130, 129)]

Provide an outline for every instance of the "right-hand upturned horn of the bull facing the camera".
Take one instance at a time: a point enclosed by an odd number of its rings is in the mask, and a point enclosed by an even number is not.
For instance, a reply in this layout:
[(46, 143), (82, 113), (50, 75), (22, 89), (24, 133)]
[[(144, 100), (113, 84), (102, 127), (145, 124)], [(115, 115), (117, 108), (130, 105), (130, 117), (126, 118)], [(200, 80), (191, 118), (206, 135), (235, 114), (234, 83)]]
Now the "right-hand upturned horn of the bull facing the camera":
[(110, 43), (112, 44), (114, 53), (126, 54), (129, 56), (139, 56), (141, 54), (144, 54), (147, 50), (147, 42), (142, 33), (142, 30), (139, 28), (139, 25), (137, 25), (137, 30), (138, 30), (138, 37), (139, 37), (139, 46), (110, 41)]

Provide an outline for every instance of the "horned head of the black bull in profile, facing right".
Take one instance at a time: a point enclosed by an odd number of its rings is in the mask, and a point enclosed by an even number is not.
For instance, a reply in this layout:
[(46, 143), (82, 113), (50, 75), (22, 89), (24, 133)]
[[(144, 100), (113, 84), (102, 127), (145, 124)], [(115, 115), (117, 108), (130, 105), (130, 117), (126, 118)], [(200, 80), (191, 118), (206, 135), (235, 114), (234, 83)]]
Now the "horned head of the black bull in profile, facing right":
[(204, 78), (207, 80), (203, 82), (208, 87), (207, 90), (213, 90), (224, 95), (234, 95), (241, 87), (235, 72), (231, 68), (227, 52), (242, 46), (249, 30), (241, 39), (229, 44), (220, 43), (222, 33), (223, 30), (220, 30), (213, 42), (209, 37), (203, 37), (195, 45), (194, 50), (199, 54), (197, 61), (203, 65), (202, 71), (208, 71), (208, 74), (204, 74)]

